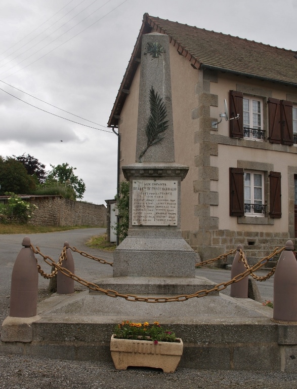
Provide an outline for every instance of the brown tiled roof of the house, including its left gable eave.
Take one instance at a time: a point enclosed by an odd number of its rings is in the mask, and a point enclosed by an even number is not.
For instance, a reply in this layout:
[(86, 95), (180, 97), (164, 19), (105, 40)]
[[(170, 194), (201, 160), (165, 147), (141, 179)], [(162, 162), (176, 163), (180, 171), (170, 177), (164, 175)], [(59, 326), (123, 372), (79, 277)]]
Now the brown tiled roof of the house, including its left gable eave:
[(189, 59), (194, 68), (214, 68), (297, 86), (296, 52), (145, 14), (108, 126), (117, 125), (125, 93), (129, 91), (138, 66), (136, 59), (140, 58), (141, 36), (152, 29), (168, 34), (171, 44)]

